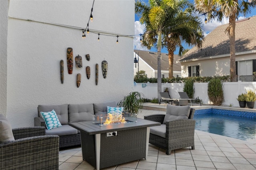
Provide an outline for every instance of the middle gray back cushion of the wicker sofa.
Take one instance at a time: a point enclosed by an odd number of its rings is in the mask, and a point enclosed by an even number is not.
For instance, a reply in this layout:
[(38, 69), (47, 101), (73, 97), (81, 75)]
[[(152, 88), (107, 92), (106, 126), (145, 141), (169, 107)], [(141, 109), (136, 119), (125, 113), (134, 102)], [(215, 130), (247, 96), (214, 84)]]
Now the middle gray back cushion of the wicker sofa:
[(93, 104), (68, 105), (69, 122), (92, 121), (94, 118)]

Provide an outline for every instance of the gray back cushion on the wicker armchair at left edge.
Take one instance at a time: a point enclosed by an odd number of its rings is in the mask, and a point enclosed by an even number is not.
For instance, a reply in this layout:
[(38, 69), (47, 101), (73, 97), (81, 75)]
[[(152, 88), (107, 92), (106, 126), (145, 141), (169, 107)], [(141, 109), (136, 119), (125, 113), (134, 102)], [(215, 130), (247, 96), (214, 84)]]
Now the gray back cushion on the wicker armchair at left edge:
[(6, 117), (0, 114), (0, 143), (13, 141), (12, 126)]

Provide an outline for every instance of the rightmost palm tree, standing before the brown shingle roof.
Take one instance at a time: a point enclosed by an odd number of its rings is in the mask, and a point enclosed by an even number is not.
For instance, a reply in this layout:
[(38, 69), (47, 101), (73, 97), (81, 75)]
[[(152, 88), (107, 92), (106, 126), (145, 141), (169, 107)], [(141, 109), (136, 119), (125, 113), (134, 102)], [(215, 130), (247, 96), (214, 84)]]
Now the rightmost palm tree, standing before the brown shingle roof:
[(229, 25), (226, 33), (230, 39), (230, 79), (232, 82), (236, 79), (236, 58), (235, 58), (235, 27), (238, 14), (250, 13), (252, 8), (256, 7), (256, 1), (250, 0), (195, 0), (195, 8), (200, 14), (207, 15), (208, 21), (217, 18), (219, 22), (223, 17), (229, 18)]

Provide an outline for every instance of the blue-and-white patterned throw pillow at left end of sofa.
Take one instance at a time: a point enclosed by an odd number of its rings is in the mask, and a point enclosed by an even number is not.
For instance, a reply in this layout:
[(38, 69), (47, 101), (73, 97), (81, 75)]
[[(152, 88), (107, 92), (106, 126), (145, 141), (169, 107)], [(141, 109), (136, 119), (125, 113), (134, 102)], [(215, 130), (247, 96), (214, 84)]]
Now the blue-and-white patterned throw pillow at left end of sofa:
[(48, 130), (62, 126), (54, 109), (50, 112), (40, 112), (40, 114), (44, 118)]

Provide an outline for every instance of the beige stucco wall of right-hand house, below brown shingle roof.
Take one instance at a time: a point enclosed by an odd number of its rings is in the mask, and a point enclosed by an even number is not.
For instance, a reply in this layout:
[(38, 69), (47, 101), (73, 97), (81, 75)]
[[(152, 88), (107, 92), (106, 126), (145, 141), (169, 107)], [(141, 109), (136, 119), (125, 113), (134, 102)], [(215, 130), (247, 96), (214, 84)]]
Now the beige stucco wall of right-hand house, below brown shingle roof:
[[(236, 61), (256, 59), (256, 53), (236, 55)], [(202, 77), (230, 75), (230, 57), (208, 58), (181, 63), (182, 77), (188, 77), (188, 67), (199, 65)]]

